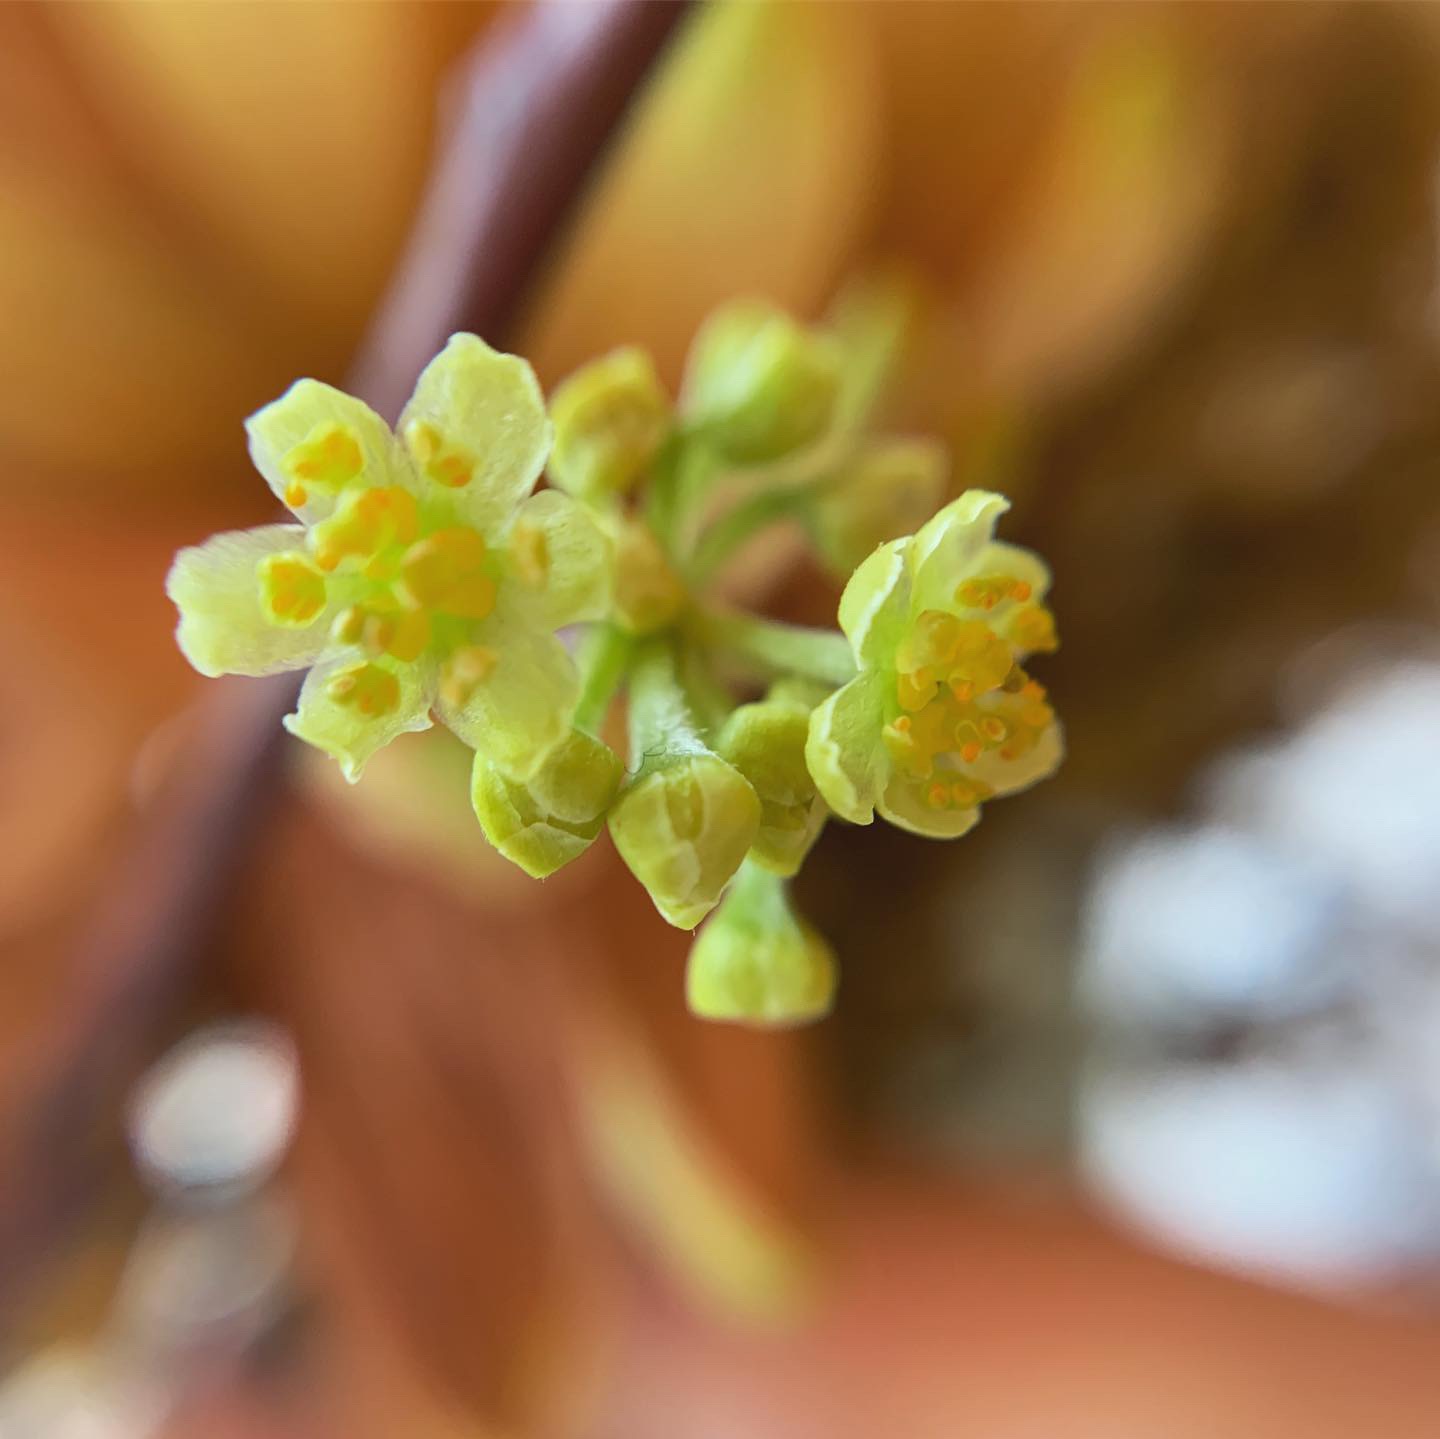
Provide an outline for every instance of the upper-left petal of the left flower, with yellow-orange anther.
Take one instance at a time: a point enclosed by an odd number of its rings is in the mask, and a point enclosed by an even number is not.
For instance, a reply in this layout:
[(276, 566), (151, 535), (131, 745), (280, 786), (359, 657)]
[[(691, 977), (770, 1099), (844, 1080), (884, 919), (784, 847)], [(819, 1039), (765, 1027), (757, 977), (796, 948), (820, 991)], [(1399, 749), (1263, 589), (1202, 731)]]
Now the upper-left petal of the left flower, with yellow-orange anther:
[(321, 380), (295, 380), (245, 422), (251, 460), (281, 504), (307, 524), (334, 513), (351, 485), (392, 484), (390, 426), (364, 400)]

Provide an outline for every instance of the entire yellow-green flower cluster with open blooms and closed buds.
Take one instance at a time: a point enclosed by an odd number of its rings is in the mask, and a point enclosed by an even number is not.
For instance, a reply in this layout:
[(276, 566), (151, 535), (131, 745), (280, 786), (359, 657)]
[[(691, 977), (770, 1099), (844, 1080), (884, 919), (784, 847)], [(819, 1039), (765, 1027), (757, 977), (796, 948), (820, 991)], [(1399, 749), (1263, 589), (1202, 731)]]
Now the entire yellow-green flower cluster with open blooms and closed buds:
[[(395, 431), (300, 380), (246, 425), (294, 523), (180, 552), (180, 647), (204, 674), (308, 670), (285, 725), (351, 781), (439, 719), (501, 854), (544, 877), (608, 827), (670, 923), (710, 916), (697, 1014), (822, 1014), (834, 962), (786, 880), (825, 821), (952, 838), (1061, 752), (1022, 668), (1056, 645), (1045, 568), (994, 539), (999, 496), (932, 513), (939, 448), (867, 428), (874, 349), (743, 301), (677, 400), (624, 349), (547, 409), (524, 360), (459, 334)], [(852, 570), (838, 632), (711, 599), (782, 521)]]

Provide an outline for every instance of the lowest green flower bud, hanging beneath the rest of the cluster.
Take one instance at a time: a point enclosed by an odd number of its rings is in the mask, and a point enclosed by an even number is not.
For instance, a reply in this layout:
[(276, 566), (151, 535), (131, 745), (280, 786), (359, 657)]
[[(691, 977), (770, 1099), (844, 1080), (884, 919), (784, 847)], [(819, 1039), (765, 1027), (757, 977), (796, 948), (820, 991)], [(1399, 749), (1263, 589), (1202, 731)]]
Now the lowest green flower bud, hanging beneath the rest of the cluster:
[(746, 864), (700, 931), (685, 998), (704, 1020), (801, 1024), (829, 1011), (835, 958), (792, 909), (785, 882)]

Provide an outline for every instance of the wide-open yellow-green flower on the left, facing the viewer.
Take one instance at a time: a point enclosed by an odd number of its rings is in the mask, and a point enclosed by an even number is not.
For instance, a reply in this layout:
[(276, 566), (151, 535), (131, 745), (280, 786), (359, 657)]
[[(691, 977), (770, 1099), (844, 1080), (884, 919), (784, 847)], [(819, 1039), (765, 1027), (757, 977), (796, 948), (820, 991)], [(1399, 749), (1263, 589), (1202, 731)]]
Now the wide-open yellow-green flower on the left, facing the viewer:
[(219, 534), (167, 579), (202, 674), (308, 668), (291, 733), (356, 779), (432, 710), (524, 779), (570, 735), (580, 690), (556, 631), (605, 615), (611, 544), (566, 494), (531, 494), (550, 422), (530, 366), (456, 334), (396, 431), (300, 380), (246, 422), (298, 524)]

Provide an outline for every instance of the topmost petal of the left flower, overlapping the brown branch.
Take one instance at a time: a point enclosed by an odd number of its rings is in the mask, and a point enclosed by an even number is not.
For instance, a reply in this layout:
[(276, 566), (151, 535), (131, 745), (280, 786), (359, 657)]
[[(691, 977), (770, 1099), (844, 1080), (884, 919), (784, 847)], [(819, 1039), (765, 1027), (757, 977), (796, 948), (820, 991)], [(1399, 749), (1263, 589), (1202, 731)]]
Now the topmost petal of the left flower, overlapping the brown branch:
[(422, 485), (452, 491), (455, 519), (487, 537), (534, 488), (550, 421), (534, 370), (474, 334), (454, 334), (420, 373), (397, 429)]

